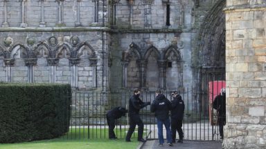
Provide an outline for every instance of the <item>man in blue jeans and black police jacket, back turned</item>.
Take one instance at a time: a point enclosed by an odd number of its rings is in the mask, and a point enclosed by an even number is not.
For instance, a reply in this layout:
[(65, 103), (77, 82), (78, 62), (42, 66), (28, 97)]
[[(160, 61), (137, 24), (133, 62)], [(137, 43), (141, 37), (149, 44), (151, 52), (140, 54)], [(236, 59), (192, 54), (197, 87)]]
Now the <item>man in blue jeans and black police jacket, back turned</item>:
[(166, 139), (169, 146), (172, 146), (172, 134), (170, 130), (169, 111), (171, 110), (171, 103), (166, 97), (161, 94), (161, 90), (155, 92), (156, 97), (150, 107), (151, 112), (155, 112), (157, 118), (157, 128), (159, 137), (159, 146), (163, 146), (163, 125), (166, 127)]

